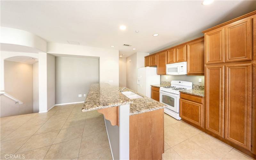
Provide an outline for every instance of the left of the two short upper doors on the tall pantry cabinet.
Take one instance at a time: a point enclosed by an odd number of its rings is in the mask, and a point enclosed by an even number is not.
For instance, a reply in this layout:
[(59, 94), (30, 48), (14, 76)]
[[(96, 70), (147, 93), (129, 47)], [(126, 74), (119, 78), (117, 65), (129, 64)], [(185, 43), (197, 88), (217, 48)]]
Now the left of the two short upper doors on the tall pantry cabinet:
[(205, 64), (225, 62), (225, 28), (217, 28), (204, 34)]

